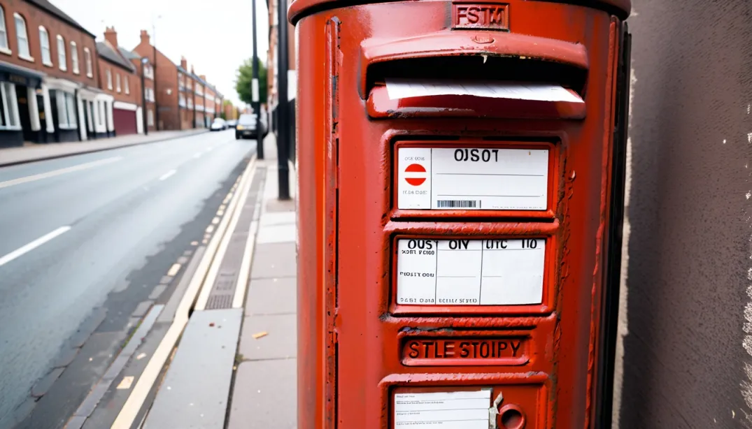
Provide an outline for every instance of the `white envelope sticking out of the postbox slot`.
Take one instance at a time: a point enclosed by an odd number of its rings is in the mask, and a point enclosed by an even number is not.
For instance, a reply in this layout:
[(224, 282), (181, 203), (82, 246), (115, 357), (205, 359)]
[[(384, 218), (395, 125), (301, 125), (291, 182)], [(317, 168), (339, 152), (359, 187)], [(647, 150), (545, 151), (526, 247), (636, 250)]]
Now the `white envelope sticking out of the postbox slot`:
[(400, 78), (387, 78), (386, 83), (390, 100), (435, 95), (473, 95), (485, 98), (584, 103), (575, 92), (556, 83)]

